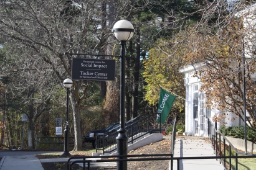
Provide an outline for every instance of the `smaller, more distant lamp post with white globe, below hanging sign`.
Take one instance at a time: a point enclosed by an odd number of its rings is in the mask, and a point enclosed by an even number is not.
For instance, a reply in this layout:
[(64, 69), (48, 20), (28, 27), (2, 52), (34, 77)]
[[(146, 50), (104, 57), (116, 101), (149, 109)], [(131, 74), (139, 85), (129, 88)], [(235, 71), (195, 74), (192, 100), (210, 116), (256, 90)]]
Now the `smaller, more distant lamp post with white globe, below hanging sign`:
[(64, 153), (61, 156), (69, 156), (69, 89), (72, 87), (73, 81), (71, 79), (65, 79), (63, 82), (64, 87), (67, 89), (67, 111), (66, 111), (66, 124), (65, 124), (65, 136), (64, 136)]

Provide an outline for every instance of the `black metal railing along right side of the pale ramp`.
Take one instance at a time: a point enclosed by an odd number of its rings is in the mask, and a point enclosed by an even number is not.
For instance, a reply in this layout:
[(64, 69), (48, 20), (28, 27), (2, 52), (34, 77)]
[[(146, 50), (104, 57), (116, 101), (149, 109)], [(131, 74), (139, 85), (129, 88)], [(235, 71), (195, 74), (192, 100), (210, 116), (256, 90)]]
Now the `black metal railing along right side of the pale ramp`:
[[(212, 148), (214, 149), (216, 157), (218, 156), (216, 160), (219, 159), (220, 163), (222, 163), (225, 169), (232, 169), (232, 158), (235, 159), (235, 170), (238, 169), (239, 158), (256, 158), (256, 154), (237, 151), (232, 143), (230, 143), (230, 141), (227, 140), (227, 138), (221, 132), (219, 132), (219, 130), (217, 130), (217, 122), (212, 123), (211, 120), (208, 119), (207, 123), (208, 138), (211, 142)], [(234, 156), (232, 156), (232, 154), (234, 154)], [(244, 155), (244, 157), (239, 156), (239, 154)]]

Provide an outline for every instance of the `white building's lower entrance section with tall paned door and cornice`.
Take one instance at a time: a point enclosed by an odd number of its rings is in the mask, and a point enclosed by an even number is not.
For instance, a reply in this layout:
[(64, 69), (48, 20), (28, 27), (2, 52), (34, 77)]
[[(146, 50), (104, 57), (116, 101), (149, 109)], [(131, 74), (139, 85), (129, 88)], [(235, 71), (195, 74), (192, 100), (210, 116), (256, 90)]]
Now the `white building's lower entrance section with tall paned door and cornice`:
[[(211, 110), (204, 107), (206, 102), (206, 97), (204, 92), (200, 91), (201, 80), (196, 78), (194, 73), (202, 68), (204, 65), (189, 65), (184, 68), (179, 69), (181, 73), (184, 74), (185, 86), (186, 86), (186, 105), (185, 105), (185, 134), (186, 135), (197, 135), (197, 136), (207, 136), (208, 135), (208, 125), (207, 118), (211, 118), (215, 114), (222, 114), (220, 110)], [(222, 122), (217, 122), (217, 127), (223, 125), (226, 122), (228, 126), (241, 125), (241, 120), (239, 118), (235, 119), (234, 122), (231, 121), (235, 114), (230, 113), (229, 117), (226, 117)]]

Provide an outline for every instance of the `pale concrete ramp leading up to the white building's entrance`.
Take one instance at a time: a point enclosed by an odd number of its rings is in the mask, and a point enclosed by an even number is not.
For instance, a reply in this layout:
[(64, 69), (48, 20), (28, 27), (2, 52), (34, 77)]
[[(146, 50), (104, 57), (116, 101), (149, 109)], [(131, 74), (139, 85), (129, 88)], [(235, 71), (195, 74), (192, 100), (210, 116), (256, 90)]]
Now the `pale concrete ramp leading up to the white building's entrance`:
[[(215, 156), (210, 143), (204, 137), (177, 136), (174, 146), (174, 157)], [(173, 169), (177, 170), (177, 161), (173, 161)], [(224, 169), (216, 159), (180, 160), (179, 170), (220, 170)]]

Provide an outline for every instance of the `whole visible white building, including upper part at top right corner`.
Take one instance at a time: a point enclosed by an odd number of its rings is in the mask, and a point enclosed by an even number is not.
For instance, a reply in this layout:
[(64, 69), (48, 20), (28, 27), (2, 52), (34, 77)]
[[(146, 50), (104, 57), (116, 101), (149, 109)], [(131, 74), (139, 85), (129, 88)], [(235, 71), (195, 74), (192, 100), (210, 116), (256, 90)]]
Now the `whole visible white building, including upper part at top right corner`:
[[(245, 10), (237, 13), (236, 17), (242, 19), (244, 23), (244, 29), (247, 34), (244, 37), (244, 52), (246, 58), (252, 58), (255, 53), (255, 28), (256, 28), (256, 4), (247, 7)], [(206, 97), (204, 92), (200, 91), (201, 80), (193, 76), (196, 71), (199, 71), (204, 66), (203, 63), (196, 65), (189, 65), (184, 68), (179, 69), (181, 73), (184, 74), (184, 82), (186, 86), (186, 106), (185, 106), (185, 134), (186, 135), (197, 135), (197, 136), (207, 136), (207, 118), (211, 119), (215, 114), (222, 114), (221, 110), (211, 110), (204, 107), (206, 102)], [(252, 79), (256, 81), (256, 73), (252, 75)], [(235, 114), (229, 113), (222, 122), (217, 122), (217, 128), (220, 125), (234, 126), (234, 125), (244, 125), (244, 121), (240, 118), (232, 120), (232, 117), (236, 117)]]

